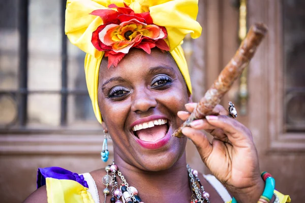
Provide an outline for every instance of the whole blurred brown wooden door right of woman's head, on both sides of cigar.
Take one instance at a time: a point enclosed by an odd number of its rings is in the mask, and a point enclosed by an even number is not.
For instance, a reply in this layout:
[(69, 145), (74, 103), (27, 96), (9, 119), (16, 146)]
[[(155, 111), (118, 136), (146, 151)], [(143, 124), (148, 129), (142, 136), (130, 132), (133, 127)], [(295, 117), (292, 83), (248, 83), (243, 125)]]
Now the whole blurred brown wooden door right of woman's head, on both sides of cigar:
[[(239, 11), (228, 0), (199, 1), (202, 37), (195, 40), (191, 70), (193, 99), (198, 99), (216, 79), (239, 45)], [(235, 3), (235, 5), (234, 5)], [(233, 101), (238, 121), (253, 134), (260, 169), (272, 174), (276, 188), (305, 202), (305, 4), (303, 0), (248, 0), (247, 24), (264, 22), (269, 32), (250, 63), (248, 100), (241, 115), (240, 81), (222, 100)], [(202, 48), (200, 48), (202, 47)], [(204, 80), (202, 79), (204, 78)], [(204, 87), (204, 88), (203, 88)], [(188, 159), (200, 168), (188, 145)], [(206, 168), (205, 173), (209, 173)]]

